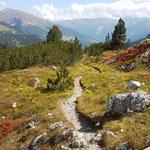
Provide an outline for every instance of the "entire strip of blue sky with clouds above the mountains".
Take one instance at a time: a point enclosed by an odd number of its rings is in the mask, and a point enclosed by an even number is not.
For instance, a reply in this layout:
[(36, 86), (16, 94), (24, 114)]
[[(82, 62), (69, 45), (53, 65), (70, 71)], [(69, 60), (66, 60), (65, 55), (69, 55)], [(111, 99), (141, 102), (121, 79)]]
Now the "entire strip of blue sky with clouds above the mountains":
[(149, 17), (150, 0), (0, 0), (12, 8), (57, 21), (79, 18)]

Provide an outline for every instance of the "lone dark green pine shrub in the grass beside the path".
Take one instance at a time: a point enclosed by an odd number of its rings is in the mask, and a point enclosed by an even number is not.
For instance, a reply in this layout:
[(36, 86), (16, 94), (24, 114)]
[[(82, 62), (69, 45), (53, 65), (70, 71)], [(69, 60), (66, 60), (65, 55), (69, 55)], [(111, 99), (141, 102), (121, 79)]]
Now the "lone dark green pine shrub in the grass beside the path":
[(47, 80), (47, 91), (64, 91), (73, 85), (69, 71), (66, 67), (61, 66), (56, 70), (56, 78)]

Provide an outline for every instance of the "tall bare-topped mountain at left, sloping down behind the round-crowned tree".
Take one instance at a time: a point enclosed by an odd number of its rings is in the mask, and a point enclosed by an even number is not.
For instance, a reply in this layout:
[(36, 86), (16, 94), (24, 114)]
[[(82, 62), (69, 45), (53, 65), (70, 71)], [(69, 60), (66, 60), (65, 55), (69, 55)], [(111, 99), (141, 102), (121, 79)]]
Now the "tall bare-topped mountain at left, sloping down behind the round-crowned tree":
[[(48, 30), (55, 24), (20, 10), (5, 9), (0, 11), (0, 21), (2, 22), (14, 26), (17, 24), (17, 19), (19, 19), (21, 25), (20, 27), (25, 34), (35, 34), (41, 39), (45, 39)], [(94, 40), (90, 36), (88, 37), (61, 25), (58, 26), (61, 29), (65, 39), (70, 39), (77, 36), (84, 45), (89, 45), (91, 41)]]

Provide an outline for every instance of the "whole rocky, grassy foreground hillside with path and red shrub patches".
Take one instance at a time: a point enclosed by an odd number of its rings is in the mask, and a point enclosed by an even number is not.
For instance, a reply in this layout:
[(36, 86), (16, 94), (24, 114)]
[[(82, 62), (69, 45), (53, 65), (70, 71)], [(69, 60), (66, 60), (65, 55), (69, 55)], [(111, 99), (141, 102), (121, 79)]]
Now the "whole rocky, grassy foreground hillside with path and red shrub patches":
[[(74, 92), (73, 88), (63, 92), (42, 90), (48, 77), (59, 77), (54, 71), (56, 66), (40, 65), (1, 73), (0, 149), (59, 150), (76, 148), (80, 142), (83, 149), (90, 150), (116, 149), (123, 142), (136, 150), (148, 147), (149, 50), (149, 42), (144, 41), (135, 48), (104, 52), (98, 60), (84, 55), (68, 66), (70, 78), (75, 79)], [(132, 70), (119, 68), (130, 61), (136, 62)], [(127, 89), (130, 81), (141, 85), (138, 89)], [(141, 106), (134, 103), (122, 116), (109, 116), (109, 100), (118, 93), (147, 95), (148, 108), (144, 103), (142, 110), (132, 111)]]

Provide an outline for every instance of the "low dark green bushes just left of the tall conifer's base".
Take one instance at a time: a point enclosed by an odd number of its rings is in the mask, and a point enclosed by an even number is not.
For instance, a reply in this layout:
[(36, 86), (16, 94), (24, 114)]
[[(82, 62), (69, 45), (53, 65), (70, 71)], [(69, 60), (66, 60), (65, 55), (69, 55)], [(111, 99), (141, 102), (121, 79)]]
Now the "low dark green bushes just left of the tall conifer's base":
[(103, 43), (91, 44), (84, 51), (88, 56), (99, 56), (103, 52)]

